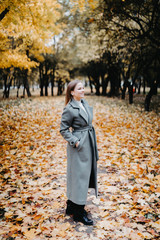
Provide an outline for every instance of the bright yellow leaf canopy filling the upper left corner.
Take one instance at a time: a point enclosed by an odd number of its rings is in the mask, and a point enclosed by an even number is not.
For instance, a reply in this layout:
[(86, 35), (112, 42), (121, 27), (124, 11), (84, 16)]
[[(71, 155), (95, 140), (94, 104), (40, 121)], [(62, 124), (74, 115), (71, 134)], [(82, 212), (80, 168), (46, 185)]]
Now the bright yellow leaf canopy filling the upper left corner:
[(61, 31), (56, 24), (60, 17), (58, 1), (4, 0), (0, 13), (6, 8), (9, 11), (0, 21), (0, 68), (36, 66), (26, 50), (40, 61), (41, 54), (53, 52), (47, 44)]

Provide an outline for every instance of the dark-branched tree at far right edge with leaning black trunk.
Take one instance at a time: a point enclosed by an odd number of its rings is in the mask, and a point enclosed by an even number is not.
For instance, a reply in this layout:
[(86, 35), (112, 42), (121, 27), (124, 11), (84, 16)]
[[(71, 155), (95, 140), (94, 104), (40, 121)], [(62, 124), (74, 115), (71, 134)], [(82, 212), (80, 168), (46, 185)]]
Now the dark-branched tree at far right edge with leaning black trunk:
[[(118, 29), (115, 36), (119, 41), (119, 57), (128, 68), (127, 78), (132, 76), (134, 84), (137, 76), (143, 75), (146, 69), (156, 69), (156, 76), (150, 75), (148, 80), (150, 92), (146, 96), (145, 109), (149, 110), (151, 97), (156, 92), (154, 89), (159, 85), (160, 3), (158, 0), (105, 0), (101, 6), (106, 30), (109, 31), (107, 23)], [(127, 78), (124, 86), (129, 85)]]

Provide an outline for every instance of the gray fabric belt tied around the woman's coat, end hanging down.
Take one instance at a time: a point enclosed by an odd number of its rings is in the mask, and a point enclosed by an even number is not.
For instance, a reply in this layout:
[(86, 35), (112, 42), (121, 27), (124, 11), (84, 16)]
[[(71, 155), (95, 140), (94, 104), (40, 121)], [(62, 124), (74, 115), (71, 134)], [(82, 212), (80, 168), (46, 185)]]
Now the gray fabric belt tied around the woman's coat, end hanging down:
[(98, 148), (97, 148), (97, 140), (96, 140), (96, 133), (95, 129), (92, 125), (87, 125), (84, 127), (79, 127), (79, 128), (73, 128), (73, 132), (83, 132), (83, 131), (88, 131), (92, 147), (93, 147), (93, 154), (95, 155), (96, 161), (99, 159), (98, 156)]

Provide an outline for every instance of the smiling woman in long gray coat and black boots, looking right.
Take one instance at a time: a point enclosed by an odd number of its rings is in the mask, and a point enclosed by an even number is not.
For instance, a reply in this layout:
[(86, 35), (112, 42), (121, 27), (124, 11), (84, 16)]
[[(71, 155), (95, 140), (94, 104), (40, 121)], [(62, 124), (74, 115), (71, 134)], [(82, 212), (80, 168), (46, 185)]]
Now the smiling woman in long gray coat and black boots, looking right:
[(74, 221), (93, 225), (84, 206), (88, 188), (97, 196), (98, 150), (92, 126), (93, 108), (84, 98), (84, 86), (74, 80), (68, 84), (66, 106), (62, 113), (60, 133), (67, 145), (67, 209)]

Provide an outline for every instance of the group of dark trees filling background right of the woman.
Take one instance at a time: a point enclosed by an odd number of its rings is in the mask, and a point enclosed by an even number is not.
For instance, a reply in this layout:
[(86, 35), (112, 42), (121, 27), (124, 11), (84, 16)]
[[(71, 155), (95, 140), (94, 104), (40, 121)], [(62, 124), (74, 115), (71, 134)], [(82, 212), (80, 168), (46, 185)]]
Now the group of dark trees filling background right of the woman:
[(133, 92), (140, 93), (143, 87), (145, 94), (147, 86), (150, 90), (145, 98), (145, 110), (149, 111), (151, 98), (160, 87), (160, 1), (105, 0), (100, 1), (99, 13), (101, 19), (94, 18), (92, 22), (106, 34), (112, 31), (112, 48), (106, 44), (99, 59), (84, 66), (90, 85), (95, 86), (97, 95), (121, 94), (122, 99), (128, 90), (130, 104)]

